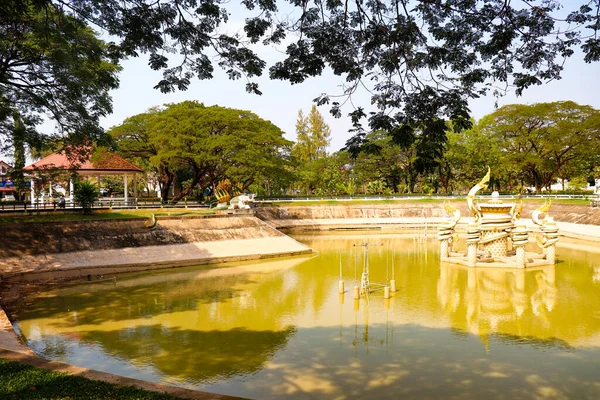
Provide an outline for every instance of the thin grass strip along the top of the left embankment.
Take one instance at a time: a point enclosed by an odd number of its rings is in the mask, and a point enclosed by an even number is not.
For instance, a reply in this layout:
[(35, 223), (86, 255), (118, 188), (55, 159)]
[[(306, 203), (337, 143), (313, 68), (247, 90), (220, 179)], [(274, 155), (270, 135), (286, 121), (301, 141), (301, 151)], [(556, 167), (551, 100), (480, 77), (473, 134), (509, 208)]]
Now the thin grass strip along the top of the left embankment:
[(122, 211), (95, 211), (92, 215), (83, 215), (80, 212), (50, 211), (22, 215), (0, 214), (0, 224), (15, 224), (27, 222), (59, 222), (59, 221), (97, 221), (105, 219), (149, 218), (150, 214), (157, 217), (193, 217), (199, 215), (212, 215), (214, 210), (209, 209), (182, 209), (182, 208), (157, 208), (144, 210)]

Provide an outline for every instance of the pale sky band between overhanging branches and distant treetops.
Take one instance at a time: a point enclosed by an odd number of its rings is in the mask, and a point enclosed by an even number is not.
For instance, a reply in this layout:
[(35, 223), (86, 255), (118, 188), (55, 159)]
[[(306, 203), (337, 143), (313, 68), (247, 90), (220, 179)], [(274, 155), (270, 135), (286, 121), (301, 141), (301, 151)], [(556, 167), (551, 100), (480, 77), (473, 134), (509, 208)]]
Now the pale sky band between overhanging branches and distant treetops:
[[(271, 58), (271, 57), (268, 57)], [(112, 92), (114, 112), (103, 119), (104, 128), (118, 125), (132, 115), (144, 112), (148, 108), (164, 103), (177, 103), (184, 100), (197, 100), (205, 105), (219, 105), (224, 107), (250, 110), (263, 119), (270, 120), (280, 127), (286, 138), (296, 139), (295, 123), (299, 109), (306, 112), (312, 106), (312, 100), (321, 93), (340, 93), (343, 79), (330, 72), (323, 76), (312, 78), (299, 85), (290, 85), (284, 81), (272, 81), (264, 76), (257, 81), (263, 92), (262, 96), (248, 94), (245, 91), (245, 80), (230, 81), (221, 73), (215, 71), (215, 78), (210, 81), (194, 80), (190, 88), (184, 92), (162, 94), (153, 86), (160, 80), (162, 74), (152, 71), (146, 65), (146, 58), (137, 58), (125, 61), (120, 74), (121, 87)], [(218, 68), (218, 67), (216, 67)], [(266, 74), (265, 74), (266, 75)], [(572, 100), (579, 104), (591, 105), (600, 109), (600, 63), (586, 64), (581, 57), (572, 57), (567, 60), (563, 78), (542, 86), (526, 90), (521, 97), (513, 93), (496, 99), (488, 96), (470, 101), (472, 115), (480, 119), (494, 111), (494, 103), (498, 106), (505, 104), (533, 104), (539, 102), (552, 102)], [(369, 107), (370, 98), (366, 93), (353, 97), (355, 105)], [(350, 104), (343, 109), (344, 115), (352, 110)], [(331, 127), (330, 152), (337, 151), (344, 146), (351, 136), (348, 129), (351, 127), (350, 119), (343, 116), (333, 118), (329, 114), (329, 107), (319, 107)]]

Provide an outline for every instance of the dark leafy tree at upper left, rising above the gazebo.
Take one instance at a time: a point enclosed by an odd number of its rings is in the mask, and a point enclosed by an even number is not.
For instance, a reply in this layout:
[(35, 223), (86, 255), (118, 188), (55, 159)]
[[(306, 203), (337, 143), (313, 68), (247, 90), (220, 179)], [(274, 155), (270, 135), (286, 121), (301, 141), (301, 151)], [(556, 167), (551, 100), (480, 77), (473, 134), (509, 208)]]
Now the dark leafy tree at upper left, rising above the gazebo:
[[(109, 90), (118, 86), (108, 50), (61, 4), (0, 2), (0, 150), (102, 136), (98, 120), (112, 111)], [(53, 134), (37, 129), (44, 119), (55, 123)]]

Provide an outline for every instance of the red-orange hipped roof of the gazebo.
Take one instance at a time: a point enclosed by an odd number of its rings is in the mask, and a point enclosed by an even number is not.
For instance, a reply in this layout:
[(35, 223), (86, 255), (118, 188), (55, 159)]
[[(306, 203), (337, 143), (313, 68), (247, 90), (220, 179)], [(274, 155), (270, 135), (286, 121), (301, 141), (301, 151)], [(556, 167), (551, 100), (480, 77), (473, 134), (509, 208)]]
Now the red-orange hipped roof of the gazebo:
[(23, 171), (43, 170), (77, 170), (77, 171), (112, 171), (112, 172), (143, 172), (135, 164), (123, 157), (108, 151), (94, 156), (89, 155), (84, 160), (77, 156), (68, 157), (64, 151), (59, 151), (42, 158), (23, 168)]

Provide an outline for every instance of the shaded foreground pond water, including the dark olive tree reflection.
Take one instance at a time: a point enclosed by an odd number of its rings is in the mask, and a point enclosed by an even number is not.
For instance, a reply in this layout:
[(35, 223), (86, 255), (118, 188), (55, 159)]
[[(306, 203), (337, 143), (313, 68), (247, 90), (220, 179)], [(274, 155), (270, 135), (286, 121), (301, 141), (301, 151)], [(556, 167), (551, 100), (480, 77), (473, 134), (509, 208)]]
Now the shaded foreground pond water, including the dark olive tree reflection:
[[(154, 332), (153, 332), (154, 331)], [(156, 335), (160, 331), (160, 335)], [(128, 360), (151, 359), (188, 386), (253, 398), (597, 398), (594, 359), (550, 338), (467, 335), (414, 325), (257, 332), (194, 332), (160, 326), (86, 332)], [(294, 344), (290, 346), (291, 338)], [(425, 340), (415, 342), (415, 337)], [(281, 351), (287, 346), (285, 351)], [(544, 350), (540, 355), (539, 349)], [(597, 364), (596, 364), (597, 365)]]

